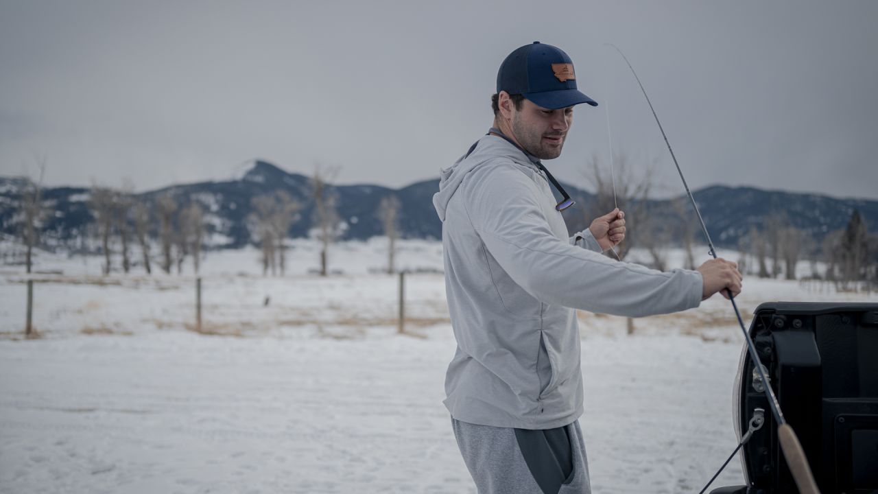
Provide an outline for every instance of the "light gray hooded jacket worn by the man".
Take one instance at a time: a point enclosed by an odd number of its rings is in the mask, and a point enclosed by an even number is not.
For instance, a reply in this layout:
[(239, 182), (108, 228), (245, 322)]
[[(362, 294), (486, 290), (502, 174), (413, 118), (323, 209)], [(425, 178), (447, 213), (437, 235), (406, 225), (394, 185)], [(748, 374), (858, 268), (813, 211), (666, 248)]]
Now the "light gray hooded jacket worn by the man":
[(569, 237), (542, 171), (486, 135), (433, 196), (457, 352), (445, 378), (453, 418), (551, 429), (582, 415), (576, 311), (649, 316), (697, 307), (701, 273), (659, 272)]

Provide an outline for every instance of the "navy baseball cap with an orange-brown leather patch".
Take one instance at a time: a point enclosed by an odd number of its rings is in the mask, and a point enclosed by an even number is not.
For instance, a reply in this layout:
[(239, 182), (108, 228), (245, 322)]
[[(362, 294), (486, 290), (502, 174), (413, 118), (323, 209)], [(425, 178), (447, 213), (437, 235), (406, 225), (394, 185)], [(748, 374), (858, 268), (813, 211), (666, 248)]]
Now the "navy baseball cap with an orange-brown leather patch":
[(557, 110), (597, 102), (576, 89), (573, 61), (560, 48), (534, 41), (516, 49), (500, 64), (497, 92), (522, 94), (534, 104)]

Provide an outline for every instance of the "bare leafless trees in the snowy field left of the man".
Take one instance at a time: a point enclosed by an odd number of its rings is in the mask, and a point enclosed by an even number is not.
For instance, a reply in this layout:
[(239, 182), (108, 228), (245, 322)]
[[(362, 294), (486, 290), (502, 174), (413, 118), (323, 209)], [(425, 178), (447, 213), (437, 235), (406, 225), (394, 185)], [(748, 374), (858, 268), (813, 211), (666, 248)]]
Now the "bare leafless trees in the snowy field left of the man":
[[(32, 251), (40, 246), (40, 230), (53, 214), (53, 209), (42, 197), (40, 180), (25, 178), (18, 186), (19, 239), (25, 246), (26, 271), (32, 271)], [(337, 169), (317, 166), (309, 178), (306, 198), (313, 206), (311, 236), (320, 245), (319, 270), (321, 276), (330, 273), (329, 250), (343, 233), (343, 222), (336, 210), (337, 194), (330, 185)], [(184, 263), (191, 259), (192, 270), (198, 273), (205, 257), (206, 228), (205, 204), (198, 194), (184, 196), (170, 190), (149, 198), (133, 193), (133, 185), (121, 188), (92, 185), (86, 201), (91, 222), (87, 236), (97, 244), (104, 259), (104, 275), (121, 269), (128, 273), (140, 265), (151, 274), (155, 267), (162, 272), (182, 273)], [(294, 199), (284, 190), (263, 193), (250, 201), (250, 213), (245, 218), (252, 243), (260, 249), (259, 263), (263, 275), (283, 276), (287, 269), (287, 242), (291, 227), (298, 222), (300, 212), (307, 204)], [(376, 214), (388, 237), (387, 272), (395, 272), (396, 240), (399, 238), (399, 200), (394, 195), (382, 198)], [(115, 260), (114, 259), (118, 259)]]

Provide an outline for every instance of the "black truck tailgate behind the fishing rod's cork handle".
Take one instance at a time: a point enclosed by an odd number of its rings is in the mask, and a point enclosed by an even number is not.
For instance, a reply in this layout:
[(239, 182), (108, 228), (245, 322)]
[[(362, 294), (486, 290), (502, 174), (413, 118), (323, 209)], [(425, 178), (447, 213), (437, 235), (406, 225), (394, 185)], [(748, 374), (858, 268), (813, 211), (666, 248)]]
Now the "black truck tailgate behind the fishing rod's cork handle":
[[(764, 412), (766, 385), (795, 429), (821, 492), (878, 493), (878, 303), (763, 303), (749, 334), (768, 382), (745, 349), (733, 406), (747, 485), (711, 494), (798, 492), (777, 424)], [(754, 430), (758, 415), (764, 424)]]

